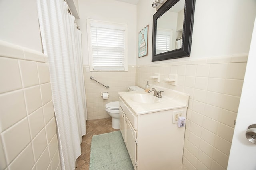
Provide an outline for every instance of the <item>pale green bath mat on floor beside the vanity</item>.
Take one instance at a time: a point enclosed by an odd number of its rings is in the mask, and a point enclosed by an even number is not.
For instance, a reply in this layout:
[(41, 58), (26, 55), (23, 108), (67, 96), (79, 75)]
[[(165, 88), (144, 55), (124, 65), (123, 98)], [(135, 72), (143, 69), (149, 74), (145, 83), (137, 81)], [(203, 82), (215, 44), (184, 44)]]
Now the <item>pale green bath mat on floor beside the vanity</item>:
[(120, 131), (94, 135), (90, 170), (134, 170)]

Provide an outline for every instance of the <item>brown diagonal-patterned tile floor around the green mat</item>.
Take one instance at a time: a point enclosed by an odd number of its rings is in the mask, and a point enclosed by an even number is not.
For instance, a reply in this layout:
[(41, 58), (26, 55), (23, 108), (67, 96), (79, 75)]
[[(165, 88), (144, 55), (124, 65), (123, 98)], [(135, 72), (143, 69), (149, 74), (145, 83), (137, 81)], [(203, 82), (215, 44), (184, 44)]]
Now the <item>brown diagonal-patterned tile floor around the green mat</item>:
[(112, 127), (112, 117), (86, 121), (86, 135), (82, 137), (82, 154), (77, 159), (76, 170), (89, 170), (91, 141), (93, 135), (118, 131)]

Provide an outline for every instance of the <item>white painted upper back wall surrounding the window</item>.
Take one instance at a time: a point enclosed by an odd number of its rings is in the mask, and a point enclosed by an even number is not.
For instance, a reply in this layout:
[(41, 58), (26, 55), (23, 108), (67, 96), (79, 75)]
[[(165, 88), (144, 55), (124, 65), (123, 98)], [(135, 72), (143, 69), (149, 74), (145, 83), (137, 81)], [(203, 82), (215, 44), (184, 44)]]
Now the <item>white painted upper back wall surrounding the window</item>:
[[(128, 24), (128, 65), (135, 65), (136, 59), (136, 5), (115, 0), (79, 0), (82, 31), (82, 52), (84, 65), (88, 65), (88, 42), (86, 18)], [(146, 25), (145, 25), (146, 26)], [(144, 27), (145, 27), (144, 26)], [(144, 28), (143, 27), (143, 28)]]

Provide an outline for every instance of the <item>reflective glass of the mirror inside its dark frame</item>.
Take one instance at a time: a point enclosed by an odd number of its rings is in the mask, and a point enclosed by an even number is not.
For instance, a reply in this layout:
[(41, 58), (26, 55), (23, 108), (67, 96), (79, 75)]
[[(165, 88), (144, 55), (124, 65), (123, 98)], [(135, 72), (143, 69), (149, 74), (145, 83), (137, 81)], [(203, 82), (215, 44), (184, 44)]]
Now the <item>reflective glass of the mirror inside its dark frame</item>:
[(185, 0), (180, 0), (157, 19), (156, 54), (181, 48)]

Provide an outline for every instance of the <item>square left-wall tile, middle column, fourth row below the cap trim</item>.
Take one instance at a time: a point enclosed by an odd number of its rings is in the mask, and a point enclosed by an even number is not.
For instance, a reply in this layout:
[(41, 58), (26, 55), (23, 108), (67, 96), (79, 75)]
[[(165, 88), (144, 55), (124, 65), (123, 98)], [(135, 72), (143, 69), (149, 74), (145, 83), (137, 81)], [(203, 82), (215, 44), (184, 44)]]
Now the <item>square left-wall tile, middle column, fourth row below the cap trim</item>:
[(31, 143), (34, 151), (34, 158), (37, 161), (47, 146), (45, 129), (42, 129)]

